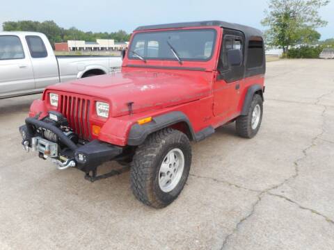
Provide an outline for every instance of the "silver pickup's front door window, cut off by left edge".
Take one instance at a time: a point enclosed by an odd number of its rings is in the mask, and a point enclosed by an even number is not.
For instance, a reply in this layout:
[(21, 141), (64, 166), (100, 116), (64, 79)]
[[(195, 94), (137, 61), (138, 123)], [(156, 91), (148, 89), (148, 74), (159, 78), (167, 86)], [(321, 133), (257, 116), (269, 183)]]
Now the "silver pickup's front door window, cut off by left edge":
[(22, 43), (15, 35), (0, 36), (0, 60), (22, 59), (24, 51)]

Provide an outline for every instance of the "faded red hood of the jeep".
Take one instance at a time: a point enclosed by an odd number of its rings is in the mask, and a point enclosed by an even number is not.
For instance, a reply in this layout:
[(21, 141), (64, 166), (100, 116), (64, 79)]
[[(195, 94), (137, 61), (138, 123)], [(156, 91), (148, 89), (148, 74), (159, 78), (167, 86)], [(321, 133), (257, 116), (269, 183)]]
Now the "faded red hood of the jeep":
[(48, 90), (72, 92), (109, 101), (111, 116), (127, 115), (127, 103), (133, 113), (175, 106), (209, 95), (204, 78), (161, 72), (127, 72), (81, 78), (51, 85)]

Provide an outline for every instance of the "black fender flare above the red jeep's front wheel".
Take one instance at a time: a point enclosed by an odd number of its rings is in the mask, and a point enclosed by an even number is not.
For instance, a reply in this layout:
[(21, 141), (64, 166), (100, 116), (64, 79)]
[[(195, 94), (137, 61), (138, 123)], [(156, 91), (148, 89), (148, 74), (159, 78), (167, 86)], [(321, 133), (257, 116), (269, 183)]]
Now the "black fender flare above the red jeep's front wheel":
[(157, 117), (153, 117), (152, 122), (148, 122), (147, 124), (132, 125), (127, 138), (127, 144), (129, 146), (138, 146), (140, 144), (143, 144), (145, 139), (151, 133), (157, 132), (162, 128), (167, 128), (168, 126), (177, 124), (179, 122), (185, 122), (188, 125), (191, 139), (195, 140), (196, 135), (193, 131), (193, 127), (191, 126), (189, 118), (181, 111), (172, 111), (164, 115), (158, 115)]

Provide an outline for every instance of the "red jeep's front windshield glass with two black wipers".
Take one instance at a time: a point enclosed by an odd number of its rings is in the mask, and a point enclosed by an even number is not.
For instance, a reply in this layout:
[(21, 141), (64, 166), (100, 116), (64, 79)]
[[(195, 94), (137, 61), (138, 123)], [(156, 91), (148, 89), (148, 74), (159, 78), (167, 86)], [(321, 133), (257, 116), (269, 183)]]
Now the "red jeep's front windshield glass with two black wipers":
[(128, 58), (206, 61), (212, 57), (215, 42), (216, 31), (211, 28), (141, 32), (134, 35)]

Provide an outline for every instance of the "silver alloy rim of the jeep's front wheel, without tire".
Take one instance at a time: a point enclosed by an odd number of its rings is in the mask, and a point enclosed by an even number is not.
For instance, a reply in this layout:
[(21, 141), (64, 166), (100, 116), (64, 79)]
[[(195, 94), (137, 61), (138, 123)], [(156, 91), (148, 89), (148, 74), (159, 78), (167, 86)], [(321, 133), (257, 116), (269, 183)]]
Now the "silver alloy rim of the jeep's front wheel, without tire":
[(172, 191), (180, 182), (184, 169), (184, 154), (172, 149), (165, 156), (159, 169), (159, 187), (163, 192)]

